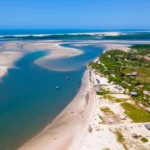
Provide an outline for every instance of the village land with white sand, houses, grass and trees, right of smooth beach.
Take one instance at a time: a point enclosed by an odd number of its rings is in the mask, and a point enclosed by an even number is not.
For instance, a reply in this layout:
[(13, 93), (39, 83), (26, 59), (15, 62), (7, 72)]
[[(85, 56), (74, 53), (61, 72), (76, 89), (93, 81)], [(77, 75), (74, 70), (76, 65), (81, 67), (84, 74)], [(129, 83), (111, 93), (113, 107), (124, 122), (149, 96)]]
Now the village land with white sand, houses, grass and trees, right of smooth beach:
[(150, 62), (143, 57), (149, 48), (106, 51), (89, 64), (97, 106), (81, 150), (149, 150)]

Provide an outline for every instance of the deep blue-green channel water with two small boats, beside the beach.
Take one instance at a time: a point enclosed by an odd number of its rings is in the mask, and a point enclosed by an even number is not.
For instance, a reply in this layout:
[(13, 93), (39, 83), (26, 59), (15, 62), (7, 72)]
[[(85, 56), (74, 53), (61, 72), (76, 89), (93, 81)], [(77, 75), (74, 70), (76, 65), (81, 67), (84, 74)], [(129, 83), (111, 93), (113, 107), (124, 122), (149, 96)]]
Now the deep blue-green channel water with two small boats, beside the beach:
[[(85, 64), (103, 50), (93, 46), (80, 49), (84, 51), (81, 56), (52, 64), (44, 62), (67, 68), (77, 64), (75, 71), (50, 71), (34, 64), (46, 51), (24, 56), (16, 62), (17, 68), (9, 70), (0, 83), (0, 150), (16, 150), (50, 123), (77, 94)], [(67, 76), (70, 80), (66, 80)], [(60, 90), (56, 90), (57, 85)]]

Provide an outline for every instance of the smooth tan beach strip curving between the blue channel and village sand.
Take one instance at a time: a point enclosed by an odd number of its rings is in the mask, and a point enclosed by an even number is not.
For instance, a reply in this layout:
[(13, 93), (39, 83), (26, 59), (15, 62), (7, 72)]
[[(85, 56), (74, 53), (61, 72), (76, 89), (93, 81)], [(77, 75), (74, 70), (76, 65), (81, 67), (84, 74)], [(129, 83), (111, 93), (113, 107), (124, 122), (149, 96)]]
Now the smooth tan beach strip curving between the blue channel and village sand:
[[(89, 99), (85, 96), (89, 92)], [(96, 109), (95, 95), (89, 81), (88, 69), (82, 85), (72, 102), (37, 136), (18, 150), (77, 150)]]

